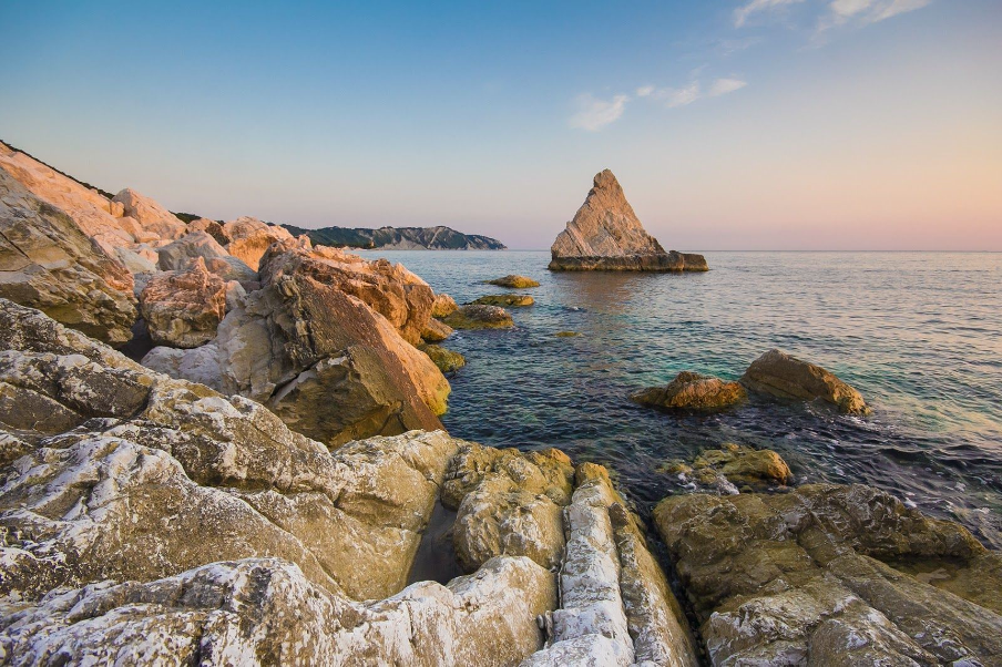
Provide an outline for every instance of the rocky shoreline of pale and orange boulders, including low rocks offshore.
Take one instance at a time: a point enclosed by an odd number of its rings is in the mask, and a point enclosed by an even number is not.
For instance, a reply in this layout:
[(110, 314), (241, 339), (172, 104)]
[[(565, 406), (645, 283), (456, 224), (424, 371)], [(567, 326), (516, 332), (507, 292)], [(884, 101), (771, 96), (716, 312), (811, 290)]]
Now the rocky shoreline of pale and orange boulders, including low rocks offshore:
[[(720, 443), (648, 522), (603, 466), (449, 435), (434, 343), (503, 308), (6, 145), (0, 232), (0, 664), (1002, 661), (1002, 555), (877, 489)], [(746, 391), (870, 410), (778, 350), (637, 400)]]

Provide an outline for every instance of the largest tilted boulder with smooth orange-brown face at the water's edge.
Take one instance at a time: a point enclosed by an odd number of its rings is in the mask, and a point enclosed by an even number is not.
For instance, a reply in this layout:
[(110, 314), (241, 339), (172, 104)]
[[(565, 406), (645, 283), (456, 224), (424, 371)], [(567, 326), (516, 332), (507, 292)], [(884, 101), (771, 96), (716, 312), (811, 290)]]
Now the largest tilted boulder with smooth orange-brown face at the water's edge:
[[(214, 345), (221, 376), (211, 387), (265, 403), (328, 447), (441, 428), (436, 414), (446, 410), (449, 382), (431, 359), (366, 304), (309, 276), (282, 276), (248, 294), (219, 324)], [(211, 379), (176, 355), (153, 350), (143, 361)]]

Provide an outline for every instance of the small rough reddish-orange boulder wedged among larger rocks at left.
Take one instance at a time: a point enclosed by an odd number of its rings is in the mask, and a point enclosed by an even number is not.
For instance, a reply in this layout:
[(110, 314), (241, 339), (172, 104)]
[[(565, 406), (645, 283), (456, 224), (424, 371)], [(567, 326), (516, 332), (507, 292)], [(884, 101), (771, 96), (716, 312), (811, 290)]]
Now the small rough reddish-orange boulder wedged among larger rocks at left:
[(201, 257), (187, 270), (152, 276), (140, 294), (140, 312), (153, 343), (196, 348), (215, 338), (226, 315), (226, 288)]

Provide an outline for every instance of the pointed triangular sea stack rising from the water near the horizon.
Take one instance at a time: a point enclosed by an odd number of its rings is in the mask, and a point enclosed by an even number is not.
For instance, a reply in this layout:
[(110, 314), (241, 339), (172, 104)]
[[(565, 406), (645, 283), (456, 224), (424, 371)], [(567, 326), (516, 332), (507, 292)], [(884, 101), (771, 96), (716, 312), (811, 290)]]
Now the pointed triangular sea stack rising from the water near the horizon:
[(550, 248), (550, 270), (705, 271), (702, 255), (666, 253), (647, 234), (609, 170)]

